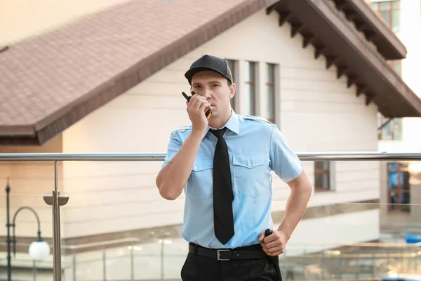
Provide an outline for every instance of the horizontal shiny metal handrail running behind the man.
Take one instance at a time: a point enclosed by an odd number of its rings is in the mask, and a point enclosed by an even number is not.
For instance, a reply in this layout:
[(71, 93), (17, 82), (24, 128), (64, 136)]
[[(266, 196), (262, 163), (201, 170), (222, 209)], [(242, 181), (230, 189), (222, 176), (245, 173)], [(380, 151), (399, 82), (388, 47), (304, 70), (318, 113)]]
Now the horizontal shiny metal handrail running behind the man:
[[(421, 152), (296, 152), (302, 161), (420, 160)], [(163, 161), (166, 153), (0, 153), (0, 162), (16, 161)]]

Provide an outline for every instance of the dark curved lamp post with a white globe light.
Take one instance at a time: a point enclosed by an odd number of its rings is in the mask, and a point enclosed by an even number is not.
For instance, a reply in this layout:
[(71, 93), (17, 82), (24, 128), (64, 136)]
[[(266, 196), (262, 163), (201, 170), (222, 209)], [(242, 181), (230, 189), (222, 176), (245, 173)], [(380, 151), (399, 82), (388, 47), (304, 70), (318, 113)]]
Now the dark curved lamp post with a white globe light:
[[(36, 217), (36, 222), (38, 223), (38, 235), (36, 236), (36, 240), (29, 245), (29, 256), (34, 261), (42, 261), (46, 259), (46, 257), (50, 254), (50, 246), (47, 242), (42, 240), (41, 238), (41, 230), (40, 230), (40, 223), (39, 223), (39, 216), (36, 214), (36, 211), (31, 207), (20, 207), (18, 211), (15, 212), (13, 216), (13, 222), (10, 223), (10, 194), (11, 188), (9, 186), (9, 181), (7, 179), (6, 185), (6, 227), (7, 227), (7, 280), (11, 281), (12, 279), (12, 266), (11, 266), (11, 243), (13, 242), (13, 254), (16, 254), (16, 237), (15, 237), (15, 220), (16, 216), (18, 216), (19, 212), (23, 209), (28, 209), (32, 211), (32, 213)], [(13, 228), (13, 237), (11, 239), (11, 227)]]

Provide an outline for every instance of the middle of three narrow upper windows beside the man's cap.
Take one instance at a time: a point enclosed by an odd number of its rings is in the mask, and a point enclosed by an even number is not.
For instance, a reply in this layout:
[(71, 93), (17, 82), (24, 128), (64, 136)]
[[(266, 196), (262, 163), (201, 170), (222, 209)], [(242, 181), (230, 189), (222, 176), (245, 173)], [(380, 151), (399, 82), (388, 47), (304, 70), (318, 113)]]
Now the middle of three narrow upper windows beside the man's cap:
[(246, 105), (246, 112), (244, 115), (256, 115), (256, 106), (255, 106), (255, 97), (256, 97), (256, 63), (246, 61), (245, 64), (245, 80), (246, 87), (244, 95), (241, 95), (241, 98), (244, 100)]

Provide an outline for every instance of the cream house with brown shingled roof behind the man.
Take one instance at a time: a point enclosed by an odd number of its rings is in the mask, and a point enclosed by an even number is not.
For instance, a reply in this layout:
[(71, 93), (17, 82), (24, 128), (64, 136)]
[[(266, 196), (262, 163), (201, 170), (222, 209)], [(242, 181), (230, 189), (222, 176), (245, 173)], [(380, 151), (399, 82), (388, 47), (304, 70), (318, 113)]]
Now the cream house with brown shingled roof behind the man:
[[(420, 98), (387, 65), (405, 58), (406, 47), (358, 0), (66, 3), (86, 15), (55, 10), (48, 27), (9, 18), (21, 22), (0, 53), (0, 152), (166, 152), (172, 129), (189, 123), (183, 74), (204, 53), (232, 64), (234, 110), (272, 120), (297, 152), (375, 151), (377, 112), (421, 116)], [(58, 183), (70, 197), (62, 207), (62, 244), (179, 240), (183, 198), (159, 197), (160, 166), (60, 162)], [(305, 162), (305, 169), (314, 195), (289, 256), (378, 239), (378, 205), (363, 204), (379, 202), (377, 162)], [(53, 163), (38, 162), (0, 169), (12, 195), (23, 195), (13, 197), (12, 208), (39, 210), (45, 237), (51, 237), (51, 210), (33, 195), (51, 193), (53, 171)], [(279, 223), (288, 188), (276, 177), (273, 184)], [(20, 221), (16, 233), (18, 241), (32, 239), (34, 223)], [(87, 250), (92, 247), (63, 254)], [(173, 251), (180, 254), (172, 261), (177, 276), (185, 252)], [(155, 244), (150, 253), (156, 252)], [(88, 254), (101, 264), (100, 252)], [(114, 263), (113, 274), (127, 263)]]

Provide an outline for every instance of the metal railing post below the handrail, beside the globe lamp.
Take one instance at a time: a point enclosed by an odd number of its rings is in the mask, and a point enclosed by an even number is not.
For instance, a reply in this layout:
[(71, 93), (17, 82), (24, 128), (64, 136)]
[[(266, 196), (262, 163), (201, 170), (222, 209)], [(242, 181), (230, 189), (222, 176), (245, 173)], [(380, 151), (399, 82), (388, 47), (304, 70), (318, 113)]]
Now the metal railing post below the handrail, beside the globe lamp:
[(60, 238), (60, 206), (69, 201), (68, 196), (60, 196), (58, 191), (58, 163), (54, 161), (53, 196), (44, 196), (44, 202), (53, 207), (53, 280), (61, 281), (61, 238)]

